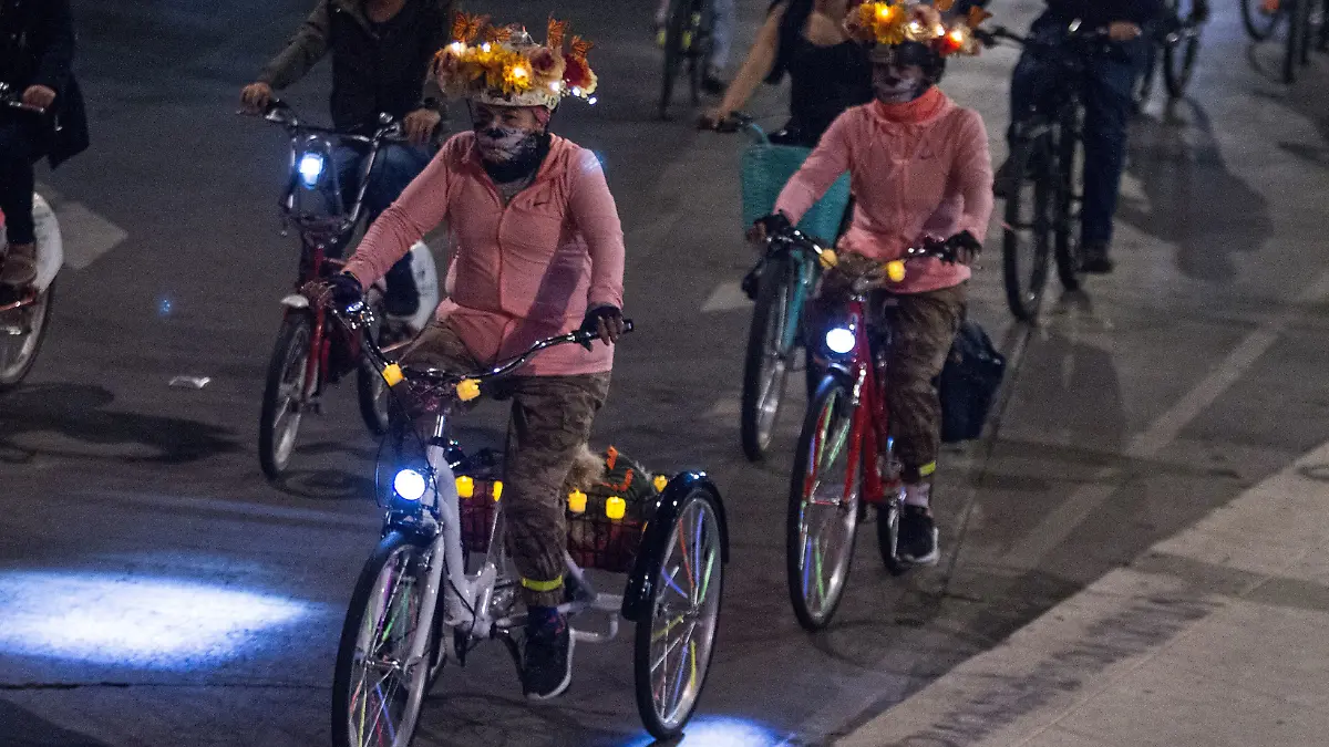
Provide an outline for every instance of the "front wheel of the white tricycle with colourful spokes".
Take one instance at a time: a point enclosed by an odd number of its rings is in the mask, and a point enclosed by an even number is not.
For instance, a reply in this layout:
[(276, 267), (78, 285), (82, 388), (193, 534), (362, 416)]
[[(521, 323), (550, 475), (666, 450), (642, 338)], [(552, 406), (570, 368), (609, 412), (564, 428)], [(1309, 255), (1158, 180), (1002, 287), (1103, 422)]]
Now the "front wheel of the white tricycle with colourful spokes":
[[(412, 663), (411, 645), (420, 626), (427, 564), (421, 548), (401, 542), (383, 558), (359, 611), (351, 653), (344, 714), (351, 747), (401, 747), (411, 742), (428, 657)], [(348, 621), (350, 622), (350, 621)], [(343, 641), (346, 645), (346, 641)]]

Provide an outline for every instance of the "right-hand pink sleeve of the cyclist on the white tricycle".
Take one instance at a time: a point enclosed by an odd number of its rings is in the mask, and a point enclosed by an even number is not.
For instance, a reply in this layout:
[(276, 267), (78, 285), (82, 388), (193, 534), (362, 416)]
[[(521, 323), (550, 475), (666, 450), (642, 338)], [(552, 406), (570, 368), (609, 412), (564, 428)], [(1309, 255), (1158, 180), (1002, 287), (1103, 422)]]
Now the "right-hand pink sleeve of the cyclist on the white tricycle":
[(590, 290), (587, 308), (613, 304), (623, 307), (623, 226), (618, 221), (618, 207), (609, 191), (605, 171), (590, 150), (581, 150), (571, 158), (571, 197), (567, 206), (577, 231), (590, 250)]

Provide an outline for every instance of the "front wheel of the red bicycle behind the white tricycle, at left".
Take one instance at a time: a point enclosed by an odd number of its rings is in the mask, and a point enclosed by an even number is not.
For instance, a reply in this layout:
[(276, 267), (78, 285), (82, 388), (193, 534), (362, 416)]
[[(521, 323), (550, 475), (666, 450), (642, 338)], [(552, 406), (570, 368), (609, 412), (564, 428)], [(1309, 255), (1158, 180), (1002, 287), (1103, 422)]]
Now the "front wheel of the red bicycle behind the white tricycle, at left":
[[(272, 356), (268, 359), (267, 364), (267, 377), (263, 385), (263, 407), (259, 412), (259, 427), (258, 427), (258, 459), (259, 465), (263, 468), (263, 475), (268, 480), (276, 480), (280, 477), (291, 464), (291, 456), (295, 452), (295, 440), (300, 431), (300, 419), (303, 413), (300, 408), (304, 403), (299, 401), (303, 399), (302, 395), (291, 397), (284, 396), (284, 404), (294, 408), (290, 412), (290, 417), (294, 420), (287, 424), (287, 429), (282, 429), (278, 433), (278, 416), (280, 405), (279, 401), (283, 397), (283, 388), (290, 389), (292, 385), (298, 385), (298, 391), (303, 391), (306, 385), (304, 371), (308, 363), (310, 352), (312, 348), (311, 340), (314, 338), (314, 322), (306, 312), (288, 312), (282, 320), (282, 328), (276, 334), (276, 344), (272, 346)], [(295, 376), (299, 380), (295, 380)]]

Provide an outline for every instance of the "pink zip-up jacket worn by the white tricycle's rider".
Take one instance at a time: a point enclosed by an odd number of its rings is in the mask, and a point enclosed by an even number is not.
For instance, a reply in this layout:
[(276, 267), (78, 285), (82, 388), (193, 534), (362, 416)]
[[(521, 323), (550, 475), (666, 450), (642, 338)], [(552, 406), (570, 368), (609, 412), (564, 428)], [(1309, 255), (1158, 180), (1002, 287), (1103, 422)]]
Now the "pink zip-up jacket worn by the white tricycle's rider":
[[(448, 319), (481, 362), (506, 360), (536, 340), (581, 326), (587, 307), (623, 307), (623, 229), (595, 156), (553, 137), (529, 187), (506, 206), (474, 149), (459, 133), (383, 211), (346, 270), (368, 287), (409, 247), (448, 222), (453, 261)], [(601, 342), (549, 348), (522, 371), (534, 376), (601, 374), (614, 348)]]

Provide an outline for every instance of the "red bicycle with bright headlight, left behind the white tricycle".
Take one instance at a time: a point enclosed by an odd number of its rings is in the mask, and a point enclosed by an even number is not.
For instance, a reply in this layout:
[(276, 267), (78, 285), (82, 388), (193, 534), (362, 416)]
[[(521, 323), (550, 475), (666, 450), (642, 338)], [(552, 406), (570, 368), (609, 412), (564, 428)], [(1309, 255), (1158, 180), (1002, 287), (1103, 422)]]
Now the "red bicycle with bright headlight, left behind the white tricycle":
[[(300, 122), (295, 112), (274, 100), (264, 120), (287, 130), (291, 138), (291, 174), (282, 195), (282, 214), (286, 225), (294, 223), (300, 237), (300, 261), (295, 288), (328, 278), (344, 267), (335, 259), (355, 235), (369, 185), (368, 175), (379, 150), (389, 142), (405, 142), (401, 125), (384, 114), (372, 136), (340, 133)], [(340, 144), (356, 144), (367, 149), (360, 167), (359, 186), (350, 206), (343, 201), (343, 185), (334, 160)], [(284, 230), (283, 230), (284, 233)], [(419, 262), (429, 272), (433, 258), (423, 243), (412, 247), (412, 263)], [(437, 286), (421, 284), (421, 291)], [(436, 294), (436, 291), (435, 291)], [(381, 306), (383, 290), (375, 287), (371, 303)], [(421, 292), (421, 308), (433, 308), (437, 298)], [(263, 473), (275, 480), (290, 467), (306, 412), (319, 412), (328, 384), (339, 381), (352, 370), (356, 372), (356, 399), (364, 424), (375, 435), (388, 427), (387, 389), (373, 371), (363, 366), (359, 343), (344, 330), (328, 324), (323, 308), (311, 306), (299, 292), (282, 299), (284, 314), (282, 327), (268, 360), (263, 387), (263, 407), (259, 415), (258, 453)], [(379, 316), (375, 316), (379, 319)], [(403, 326), (375, 328), (364, 334), (409, 336)]]

